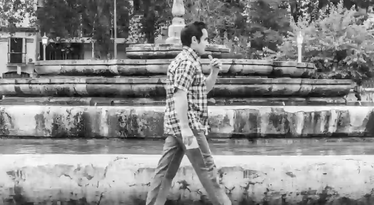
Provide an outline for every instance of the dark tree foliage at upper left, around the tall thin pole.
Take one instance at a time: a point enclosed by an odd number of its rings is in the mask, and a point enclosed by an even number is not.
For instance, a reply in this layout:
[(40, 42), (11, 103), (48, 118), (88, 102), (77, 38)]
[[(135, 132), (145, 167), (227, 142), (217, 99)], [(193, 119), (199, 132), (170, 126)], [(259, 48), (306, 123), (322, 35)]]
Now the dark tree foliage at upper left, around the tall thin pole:
[[(127, 38), (132, 6), (117, 0), (117, 34)], [(46, 0), (36, 12), (40, 31), (49, 38), (70, 41), (89, 37), (95, 42), (97, 56), (108, 57), (114, 25), (114, 0)]]

